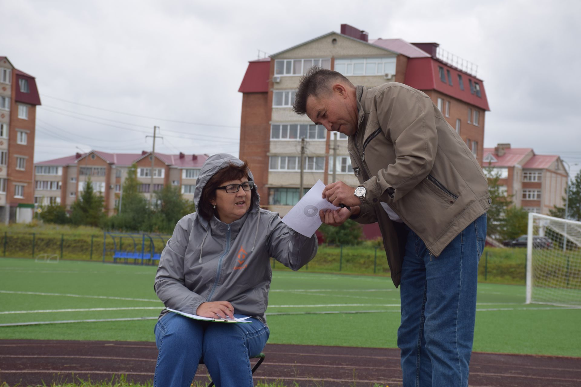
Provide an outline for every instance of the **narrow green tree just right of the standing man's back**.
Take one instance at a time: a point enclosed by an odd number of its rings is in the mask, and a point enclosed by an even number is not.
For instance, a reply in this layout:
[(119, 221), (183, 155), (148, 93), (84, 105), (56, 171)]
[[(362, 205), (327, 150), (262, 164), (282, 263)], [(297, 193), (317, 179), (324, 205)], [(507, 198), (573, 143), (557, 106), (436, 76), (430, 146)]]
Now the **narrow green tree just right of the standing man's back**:
[(488, 195), (492, 200), (492, 204), (487, 211), (486, 235), (499, 239), (503, 237), (505, 214), (512, 204), (512, 195), (507, 196), (501, 190), (501, 186), (498, 184), (500, 172), (494, 171), (494, 168), (489, 165), (489, 167), (485, 168), (485, 173), (488, 177)]

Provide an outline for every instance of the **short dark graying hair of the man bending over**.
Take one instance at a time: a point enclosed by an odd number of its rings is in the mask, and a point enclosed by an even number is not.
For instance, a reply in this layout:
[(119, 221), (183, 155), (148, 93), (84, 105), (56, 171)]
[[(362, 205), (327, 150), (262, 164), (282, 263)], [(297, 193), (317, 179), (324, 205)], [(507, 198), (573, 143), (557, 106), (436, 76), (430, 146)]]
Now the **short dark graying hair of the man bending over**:
[(349, 79), (337, 71), (326, 70), (318, 66), (311, 67), (307, 74), (300, 80), (299, 89), (296, 91), (295, 103), (292, 110), (296, 114), (303, 115), (307, 113), (307, 98), (309, 96), (317, 97), (322, 93), (331, 91), (331, 83), (340, 81), (346, 85), (355, 87)]

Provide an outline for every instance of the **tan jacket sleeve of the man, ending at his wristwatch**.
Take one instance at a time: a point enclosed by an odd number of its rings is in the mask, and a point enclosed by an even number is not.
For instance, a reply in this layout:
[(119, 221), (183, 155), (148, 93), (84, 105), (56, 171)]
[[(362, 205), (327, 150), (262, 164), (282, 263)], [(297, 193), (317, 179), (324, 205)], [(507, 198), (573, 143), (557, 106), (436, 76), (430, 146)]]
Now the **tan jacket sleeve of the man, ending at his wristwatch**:
[[(380, 169), (362, 185), (366, 200), (399, 200), (431, 171), (437, 150), (436, 115), (432, 100), (403, 86), (390, 86), (376, 97), (378, 124), (393, 143), (396, 162)], [(388, 194), (389, 187), (395, 191)], [(374, 201), (374, 199), (376, 199)]]

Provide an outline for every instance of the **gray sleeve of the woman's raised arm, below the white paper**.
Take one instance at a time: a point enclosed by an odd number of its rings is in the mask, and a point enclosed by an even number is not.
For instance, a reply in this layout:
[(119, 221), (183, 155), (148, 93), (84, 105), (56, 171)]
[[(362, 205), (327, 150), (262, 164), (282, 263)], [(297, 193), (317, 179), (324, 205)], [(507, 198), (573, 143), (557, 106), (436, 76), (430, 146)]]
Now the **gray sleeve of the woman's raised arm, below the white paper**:
[(317, 254), (317, 236), (306, 237), (282, 222), (280, 216), (272, 219), (267, 245), (270, 256), (292, 270), (299, 270)]

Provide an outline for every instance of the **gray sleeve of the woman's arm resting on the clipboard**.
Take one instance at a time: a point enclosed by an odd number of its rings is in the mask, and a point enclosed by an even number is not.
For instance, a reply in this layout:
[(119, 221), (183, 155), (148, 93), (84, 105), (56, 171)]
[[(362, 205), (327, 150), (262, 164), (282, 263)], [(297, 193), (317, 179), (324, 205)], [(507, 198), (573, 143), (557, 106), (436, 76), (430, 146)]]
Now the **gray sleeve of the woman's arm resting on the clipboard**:
[(200, 303), (206, 300), (185, 287), (184, 256), (189, 242), (189, 230), (181, 219), (162, 251), (153, 288), (167, 308), (196, 314)]

